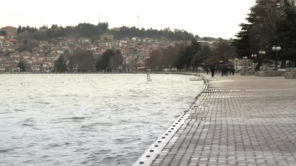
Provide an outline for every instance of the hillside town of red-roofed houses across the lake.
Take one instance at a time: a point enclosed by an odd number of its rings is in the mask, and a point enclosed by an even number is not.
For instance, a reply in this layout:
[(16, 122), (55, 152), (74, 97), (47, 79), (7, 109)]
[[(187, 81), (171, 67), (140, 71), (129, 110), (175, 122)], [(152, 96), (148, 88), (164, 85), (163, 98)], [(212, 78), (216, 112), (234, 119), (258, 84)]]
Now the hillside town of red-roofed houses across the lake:
[[(19, 72), (19, 62), (25, 62), (31, 72), (51, 72), (55, 68), (55, 61), (60, 55), (69, 58), (74, 51), (88, 50), (93, 54), (94, 59), (102, 56), (108, 50), (120, 50), (123, 57), (119, 67), (147, 66), (147, 60), (153, 50), (168, 49), (175, 45), (190, 45), (191, 41), (170, 40), (162, 36), (159, 38), (137, 36), (131, 38), (114, 38), (112, 32), (119, 28), (113, 28), (100, 35), (99, 40), (90, 37), (56, 37), (49, 40), (18, 39), (17, 28), (6, 26), (1, 28), (5, 36), (0, 36), (0, 72)], [(42, 30), (39, 30), (42, 31)], [(26, 32), (24, 32), (26, 33)], [(218, 46), (221, 38), (203, 37), (197, 39), (201, 45), (210, 48)], [(21, 50), (26, 44), (31, 44), (32, 50)], [(67, 62), (67, 59), (66, 59)], [(69, 63), (69, 62), (67, 62)]]

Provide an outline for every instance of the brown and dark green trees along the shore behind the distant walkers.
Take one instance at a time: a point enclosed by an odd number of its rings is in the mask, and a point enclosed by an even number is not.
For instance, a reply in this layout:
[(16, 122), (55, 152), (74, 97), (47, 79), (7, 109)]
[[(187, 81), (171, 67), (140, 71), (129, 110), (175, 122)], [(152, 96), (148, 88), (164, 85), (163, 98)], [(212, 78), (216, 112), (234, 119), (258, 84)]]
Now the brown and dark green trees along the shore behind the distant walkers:
[(221, 40), (218, 47), (211, 48), (208, 45), (202, 46), (193, 39), (189, 46), (181, 44), (173, 48), (153, 50), (148, 59), (148, 66), (171, 66), (179, 70), (194, 70), (204, 64), (217, 64), (221, 60), (227, 62), (228, 59), (235, 57), (235, 48), (226, 41)]

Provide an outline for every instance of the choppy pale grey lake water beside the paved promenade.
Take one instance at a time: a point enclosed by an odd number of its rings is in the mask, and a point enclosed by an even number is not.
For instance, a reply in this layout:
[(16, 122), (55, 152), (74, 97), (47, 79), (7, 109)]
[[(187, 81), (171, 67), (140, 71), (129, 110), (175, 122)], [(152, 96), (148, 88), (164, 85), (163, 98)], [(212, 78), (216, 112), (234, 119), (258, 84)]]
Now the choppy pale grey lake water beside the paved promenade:
[(130, 166), (202, 90), (191, 77), (0, 75), (0, 165)]

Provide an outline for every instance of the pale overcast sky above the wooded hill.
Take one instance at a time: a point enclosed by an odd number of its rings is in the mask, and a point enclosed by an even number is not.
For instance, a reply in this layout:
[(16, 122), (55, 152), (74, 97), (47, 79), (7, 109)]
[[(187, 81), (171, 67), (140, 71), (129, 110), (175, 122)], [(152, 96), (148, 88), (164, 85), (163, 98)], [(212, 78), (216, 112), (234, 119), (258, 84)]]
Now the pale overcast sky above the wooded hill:
[(199, 36), (233, 37), (255, 0), (3, 0), (0, 27), (75, 26), (108, 21), (126, 26), (184, 29)]

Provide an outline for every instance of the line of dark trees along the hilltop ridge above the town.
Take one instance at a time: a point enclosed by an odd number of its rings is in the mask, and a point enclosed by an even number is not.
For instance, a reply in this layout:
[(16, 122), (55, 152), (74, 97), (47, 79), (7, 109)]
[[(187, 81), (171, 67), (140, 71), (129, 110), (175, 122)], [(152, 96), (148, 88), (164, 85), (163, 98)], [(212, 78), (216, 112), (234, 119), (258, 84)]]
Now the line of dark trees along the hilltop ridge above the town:
[[(53, 24), (51, 27), (43, 25), (39, 27), (39, 30), (36, 27), (21, 27), (17, 29), (18, 34), (27, 32), (29, 33), (30, 38), (35, 38), (37, 40), (49, 40), (54, 37), (69, 36), (69, 37), (91, 37), (94, 40), (98, 40), (102, 33), (106, 31), (111, 31), (115, 38), (124, 38), (124, 37), (166, 37), (171, 40), (192, 40), (194, 35), (188, 33), (185, 30), (175, 29), (171, 31), (169, 28), (164, 30), (156, 29), (138, 29), (136, 27), (127, 27), (123, 26), (119, 31), (109, 30), (108, 22), (102, 22), (95, 24), (90, 23), (79, 23), (77, 26), (67, 26), (62, 27), (57, 24)], [(20, 35), (21, 36), (21, 35)]]

